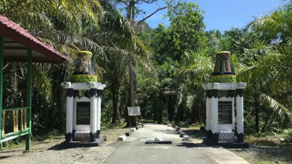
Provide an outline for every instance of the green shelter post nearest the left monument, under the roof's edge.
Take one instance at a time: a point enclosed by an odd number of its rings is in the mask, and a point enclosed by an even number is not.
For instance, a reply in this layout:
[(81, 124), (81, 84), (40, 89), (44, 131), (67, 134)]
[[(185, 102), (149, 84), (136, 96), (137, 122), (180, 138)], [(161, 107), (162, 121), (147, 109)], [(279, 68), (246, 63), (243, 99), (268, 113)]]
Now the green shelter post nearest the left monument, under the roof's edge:
[(27, 49), (27, 88), (26, 88), (26, 105), (29, 107), (26, 112), (27, 128), (29, 132), (26, 136), (25, 150), (30, 150), (32, 139), (32, 49)]

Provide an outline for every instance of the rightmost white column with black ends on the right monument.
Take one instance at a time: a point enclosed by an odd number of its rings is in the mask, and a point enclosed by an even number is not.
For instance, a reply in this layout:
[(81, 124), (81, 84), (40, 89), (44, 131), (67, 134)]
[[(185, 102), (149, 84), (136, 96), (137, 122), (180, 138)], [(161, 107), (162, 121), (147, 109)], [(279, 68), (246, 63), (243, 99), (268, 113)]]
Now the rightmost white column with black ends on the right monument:
[[(244, 134), (243, 131), (243, 95), (242, 89), (236, 90), (236, 129), (237, 133)], [(241, 93), (241, 94), (240, 94)]]

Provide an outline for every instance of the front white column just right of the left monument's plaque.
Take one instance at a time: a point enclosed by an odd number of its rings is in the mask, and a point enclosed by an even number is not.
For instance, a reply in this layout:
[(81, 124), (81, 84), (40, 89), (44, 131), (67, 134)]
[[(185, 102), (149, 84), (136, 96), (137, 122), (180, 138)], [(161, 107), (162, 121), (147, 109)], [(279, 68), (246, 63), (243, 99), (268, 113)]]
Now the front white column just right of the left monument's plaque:
[[(97, 89), (91, 89), (90, 93), (90, 133), (96, 134), (97, 125)], [(95, 142), (96, 137), (91, 137), (90, 142)]]

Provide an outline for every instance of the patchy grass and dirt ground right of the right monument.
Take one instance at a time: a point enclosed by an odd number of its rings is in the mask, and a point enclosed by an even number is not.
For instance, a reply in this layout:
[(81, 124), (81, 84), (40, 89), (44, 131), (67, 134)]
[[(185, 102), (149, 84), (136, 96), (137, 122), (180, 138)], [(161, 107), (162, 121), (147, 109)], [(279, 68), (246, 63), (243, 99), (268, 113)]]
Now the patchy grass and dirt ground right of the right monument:
[(247, 135), (245, 141), (250, 149), (232, 150), (252, 164), (291, 164), (292, 130), (262, 135)]

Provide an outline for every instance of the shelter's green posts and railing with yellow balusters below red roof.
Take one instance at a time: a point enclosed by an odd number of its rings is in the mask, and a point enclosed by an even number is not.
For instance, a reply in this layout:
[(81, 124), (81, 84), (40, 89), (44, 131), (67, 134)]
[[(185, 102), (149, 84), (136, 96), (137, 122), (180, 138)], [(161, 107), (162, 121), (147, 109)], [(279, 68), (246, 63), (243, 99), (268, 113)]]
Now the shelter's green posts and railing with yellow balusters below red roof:
[[(26, 135), (25, 150), (31, 146), (31, 115), (32, 115), (32, 50), (27, 49), (27, 100), (25, 107), (3, 108), (3, 60), (4, 60), (4, 37), (0, 35), (0, 146), (2, 143)], [(12, 113), (11, 113), (12, 112)], [(6, 133), (6, 116), (13, 122), (13, 131)], [(12, 118), (11, 118), (12, 117)]]

